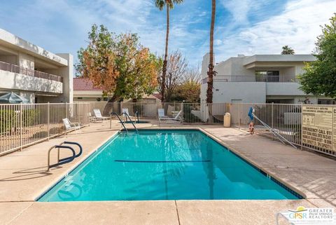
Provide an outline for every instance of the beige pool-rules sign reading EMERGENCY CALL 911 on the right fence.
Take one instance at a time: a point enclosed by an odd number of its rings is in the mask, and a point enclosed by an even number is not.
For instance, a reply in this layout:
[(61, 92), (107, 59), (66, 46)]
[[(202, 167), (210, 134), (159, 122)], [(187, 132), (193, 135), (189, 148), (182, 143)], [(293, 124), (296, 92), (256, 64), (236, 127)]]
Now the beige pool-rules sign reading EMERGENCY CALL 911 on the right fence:
[(302, 106), (302, 143), (336, 151), (336, 107)]

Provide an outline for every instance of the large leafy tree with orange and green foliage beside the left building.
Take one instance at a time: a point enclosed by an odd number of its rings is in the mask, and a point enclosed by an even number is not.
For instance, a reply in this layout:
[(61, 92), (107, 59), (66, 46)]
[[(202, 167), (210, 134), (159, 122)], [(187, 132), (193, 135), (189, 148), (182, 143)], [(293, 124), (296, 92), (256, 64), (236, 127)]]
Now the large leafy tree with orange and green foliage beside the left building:
[(77, 76), (103, 88), (105, 96), (113, 96), (109, 102), (153, 93), (160, 60), (141, 46), (137, 34), (116, 35), (104, 25), (93, 25), (88, 38), (87, 47), (78, 51)]

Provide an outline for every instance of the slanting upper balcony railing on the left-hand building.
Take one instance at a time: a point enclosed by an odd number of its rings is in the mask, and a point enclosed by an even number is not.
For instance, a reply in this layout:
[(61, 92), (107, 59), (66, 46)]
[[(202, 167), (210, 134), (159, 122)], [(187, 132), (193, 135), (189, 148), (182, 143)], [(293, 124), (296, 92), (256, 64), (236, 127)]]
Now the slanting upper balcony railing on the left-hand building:
[(42, 71), (19, 67), (15, 64), (10, 64), (7, 62), (0, 61), (0, 70), (10, 71), (10, 72), (17, 73), (17, 74), (24, 74), (27, 76), (35, 76), (38, 78), (47, 79), (51, 81), (63, 82), (62, 76), (56, 76), (54, 74), (48, 74)]

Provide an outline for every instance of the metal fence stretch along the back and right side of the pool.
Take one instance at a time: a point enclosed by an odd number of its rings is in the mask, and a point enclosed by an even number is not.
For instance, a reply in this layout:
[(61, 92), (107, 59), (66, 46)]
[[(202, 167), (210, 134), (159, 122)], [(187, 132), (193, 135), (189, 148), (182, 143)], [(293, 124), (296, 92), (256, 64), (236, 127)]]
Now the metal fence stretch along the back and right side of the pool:
[[(97, 107), (97, 103), (94, 107)], [(321, 106), (321, 105), (318, 105)], [(180, 115), (183, 123), (198, 124), (223, 124), (223, 116), (226, 112), (231, 115), (232, 127), (248, 129), (248, 111), (251, 107), (255, 109), (255, 116), (269, 125), (272, 130), (285, 137), (290, 143), (296, 146), (320, 151), (324, 154), (336, 156), (336, 152), (325, 151), (316, 146), (302, 144), (302, 104), (248, 104), (248, 103), (144, 103), (144, 102), (120, 102), (120, 103), (99, 103), (101, 111), (108, 116), (111, 111), (121, 114), (123, 108), (127, 108), (130, 116), (139, 118), (158, 118), (158, 109), (165, 109), (165, 115)], [(330, 107), (330, 105), (329, 105)], [(335, 107), (335, 106), (334, 106)], [(90, 107), (93, 109), (93, 107)], [(106, 110), (108, 109), (108, 110)], [(276, 139), (272, 132), (258, 120), (253, 121), (255, 132), (259, 135)]]

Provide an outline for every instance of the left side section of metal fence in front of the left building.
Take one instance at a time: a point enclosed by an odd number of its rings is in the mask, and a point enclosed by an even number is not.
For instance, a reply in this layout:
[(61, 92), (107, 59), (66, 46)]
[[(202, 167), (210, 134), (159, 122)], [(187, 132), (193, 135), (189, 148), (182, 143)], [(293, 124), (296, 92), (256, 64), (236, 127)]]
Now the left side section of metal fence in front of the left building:
[(88, 103), (0, 104), (0, 155), (64, 132), (62, 118), (90, 123)]

